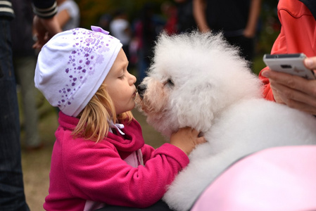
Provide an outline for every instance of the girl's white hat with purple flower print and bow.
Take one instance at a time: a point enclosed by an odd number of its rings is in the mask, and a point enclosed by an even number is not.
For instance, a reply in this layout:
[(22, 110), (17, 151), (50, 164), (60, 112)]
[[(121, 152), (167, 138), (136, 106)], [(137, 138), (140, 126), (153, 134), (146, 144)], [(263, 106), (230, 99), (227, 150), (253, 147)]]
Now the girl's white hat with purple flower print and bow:
[(100, 27), (76, 28), (52, 37), (39, 52), (35, 87), (51, 106), (77, 117), (110, 71), (120, 40)]

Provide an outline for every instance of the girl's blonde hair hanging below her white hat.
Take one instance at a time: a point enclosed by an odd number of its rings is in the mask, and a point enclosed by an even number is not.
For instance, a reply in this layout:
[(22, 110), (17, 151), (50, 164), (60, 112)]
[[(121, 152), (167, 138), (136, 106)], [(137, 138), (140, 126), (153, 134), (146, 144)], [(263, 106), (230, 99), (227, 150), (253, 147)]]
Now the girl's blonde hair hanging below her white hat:
[(108, 135), (109, 120), (113, 122), (130, 122), (133, 119), (131, 111), (116, 115), (113, 101), (110, 98), (106, 85), (102, 84), (91, 98), (87, 106), (82, 110), (77, 127), (72, 132), (74, 137), (81, 136), (91, 141), (101, 141)]

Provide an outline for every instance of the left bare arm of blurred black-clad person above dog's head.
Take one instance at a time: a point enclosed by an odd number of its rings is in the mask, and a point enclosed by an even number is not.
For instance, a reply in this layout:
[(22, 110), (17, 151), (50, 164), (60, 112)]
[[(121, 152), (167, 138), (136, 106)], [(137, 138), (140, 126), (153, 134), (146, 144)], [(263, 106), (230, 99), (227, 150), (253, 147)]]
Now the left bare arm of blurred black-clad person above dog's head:
[(206, 21), (206, 1), (205, 0), (194, 0), (193, 1), (193, 15), (196, 20), (198, 30), (201, 32), (210, 31), (208, 22)]

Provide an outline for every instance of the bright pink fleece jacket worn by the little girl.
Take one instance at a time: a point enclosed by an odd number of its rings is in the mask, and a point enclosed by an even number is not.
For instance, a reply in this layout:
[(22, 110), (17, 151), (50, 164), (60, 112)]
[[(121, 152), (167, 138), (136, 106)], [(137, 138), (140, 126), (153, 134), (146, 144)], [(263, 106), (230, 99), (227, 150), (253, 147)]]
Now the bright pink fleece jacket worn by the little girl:
[[(189, 163), (187, 155), (170, 143), (156, 150), (144, 144), (136, 120), (125, 124), (125, 136), (109, 132), (98, 143), (72, 139), (79, 119), (59, 113), (58, 122), (45, 210), (84, 210), (104, 204), (148, 207), (162, 198), (166, 186)], [(132, 167), (127, 157), (139, 149), (144, 166)]]

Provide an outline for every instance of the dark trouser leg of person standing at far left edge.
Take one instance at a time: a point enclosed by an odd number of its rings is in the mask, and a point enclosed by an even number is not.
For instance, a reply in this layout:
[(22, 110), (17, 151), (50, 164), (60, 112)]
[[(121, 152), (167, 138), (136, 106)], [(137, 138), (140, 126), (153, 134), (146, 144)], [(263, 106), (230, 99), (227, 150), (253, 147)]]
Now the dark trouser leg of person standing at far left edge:
[[(18, 99), (9, 20), (0, 18), (0, 210), (29, 210), (25, 202)], [(0, 74), (1, 75), (1, 74)]]

